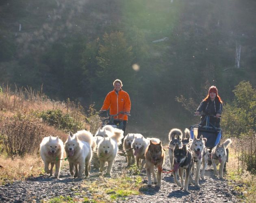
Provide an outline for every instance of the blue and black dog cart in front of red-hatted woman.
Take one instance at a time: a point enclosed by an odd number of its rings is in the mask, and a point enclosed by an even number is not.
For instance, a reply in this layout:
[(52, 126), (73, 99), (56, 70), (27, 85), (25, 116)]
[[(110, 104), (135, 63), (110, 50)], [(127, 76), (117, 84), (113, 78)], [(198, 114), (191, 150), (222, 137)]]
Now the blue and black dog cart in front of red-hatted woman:
[[(220, 143), (222, 138), (222, 130), (219, 127), (215, 127), (212, 123), (210, 123), (210, 117), (215, 117), (215, 115), (211, 114), (201, 114), (199, 116), (205, 116), (206, 125), (195, 124), (189, 127), (191, 139), (194, 138), (195, 134), (197, 134), (197, 138), (203, 135), (203, 138), (207, 138), (207, 142), (205, 143), (208, 151), (208, 164), (211, 164), (211, 152), (213, 147)], [(220, 119), (220, 118), (219, 118)], [(202, 123), (202, 122), (201, 122)], [(227, 149), (228, 156), (228, 149)], [(225, 164), (226, 165), (226, 164)]]

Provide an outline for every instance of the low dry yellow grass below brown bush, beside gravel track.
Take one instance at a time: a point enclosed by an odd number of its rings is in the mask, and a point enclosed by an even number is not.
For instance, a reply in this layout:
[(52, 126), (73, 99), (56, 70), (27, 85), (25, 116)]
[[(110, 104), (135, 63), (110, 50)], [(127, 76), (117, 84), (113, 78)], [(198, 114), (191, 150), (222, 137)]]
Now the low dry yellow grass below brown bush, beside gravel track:
[(0, 185), (44, 173), (41, 157), (36, 154), (25, 155), (22, 158), (5, 158), (1, 155), (0, 165)]

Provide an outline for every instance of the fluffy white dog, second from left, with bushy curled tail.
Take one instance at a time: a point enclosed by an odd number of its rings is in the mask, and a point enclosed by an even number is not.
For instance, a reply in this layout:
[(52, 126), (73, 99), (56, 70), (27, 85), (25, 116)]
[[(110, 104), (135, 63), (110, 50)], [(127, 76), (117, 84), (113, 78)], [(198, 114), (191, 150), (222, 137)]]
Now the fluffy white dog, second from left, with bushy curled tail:
[[(74, 135), (70, 132), (65, 142), (65, 151), (69, 162), (69, 171), (72, 176), (82, 178), (84, 171), (86, 177), (89, 175), (91, 170), (92, 143), (93, 136), (90, 132), (80, 130)], [(73, 171), (74, 166), (75, 173)]]

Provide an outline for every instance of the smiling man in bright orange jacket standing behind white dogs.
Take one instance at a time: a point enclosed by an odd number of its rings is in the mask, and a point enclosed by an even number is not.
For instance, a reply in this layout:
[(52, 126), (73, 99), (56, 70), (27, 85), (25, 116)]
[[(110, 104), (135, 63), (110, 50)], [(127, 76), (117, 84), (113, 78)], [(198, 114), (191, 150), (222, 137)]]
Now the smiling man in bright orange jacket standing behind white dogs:
[(114, 90), (106, 95), (104, 104), (100, 111), (108, 110), (108, 108), (110, 108), (109, 113), (111, 115), (119, 113), (117, 116), (114, 117), (114, 123), (118, 123), (119, 125), (123, 122), (122, 130), (124, 131), (125, 135), (128, 116), (125, 114), (121, 114), (120, 112), (130, 114), (131, 101), (128, 93), (123, 91), (121, 88), (123, 86), (121, 80), (115, 80), (113, 82), (113, 86)]

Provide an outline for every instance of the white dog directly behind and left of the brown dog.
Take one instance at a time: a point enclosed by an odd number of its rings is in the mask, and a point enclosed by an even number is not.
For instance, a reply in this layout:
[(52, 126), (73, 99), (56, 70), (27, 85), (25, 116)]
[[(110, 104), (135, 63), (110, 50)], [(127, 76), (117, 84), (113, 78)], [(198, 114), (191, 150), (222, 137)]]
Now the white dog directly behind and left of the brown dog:
[(142, 160), (141, 168), (143, 168), (146, 162), (145, 151), (149, 144), (150, 144), (149, 139), (144, 138), (142, 134), (135, 134), (135, 139), (132, 142), (132, 149), (134, 150), (137, 167), (139, 167), (139, 162), (140, 160)]

